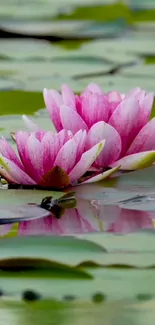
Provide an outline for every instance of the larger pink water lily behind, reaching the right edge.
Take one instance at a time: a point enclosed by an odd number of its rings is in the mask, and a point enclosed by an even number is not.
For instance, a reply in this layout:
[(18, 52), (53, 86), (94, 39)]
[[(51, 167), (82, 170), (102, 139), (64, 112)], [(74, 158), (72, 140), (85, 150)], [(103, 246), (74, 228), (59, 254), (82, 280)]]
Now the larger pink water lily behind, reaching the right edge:
[(149, 121), (153, 93), (135, 88), (127, 95), (104, 94), (98, 85), (89, 84), (77, 96), (63, 85), (61, 94), (44, 89), (44, 100), (57, 131), (88, 131), (88, 149), (106, 140), (94, 167), (134, 170), (155, 161), (155, 118)]

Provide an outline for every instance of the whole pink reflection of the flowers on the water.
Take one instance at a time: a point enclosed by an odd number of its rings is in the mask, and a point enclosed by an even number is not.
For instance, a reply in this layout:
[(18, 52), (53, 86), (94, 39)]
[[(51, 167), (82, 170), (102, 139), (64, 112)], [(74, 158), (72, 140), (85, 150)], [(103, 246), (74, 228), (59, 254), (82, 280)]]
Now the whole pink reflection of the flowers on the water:
[[(142, 229), (153, 229), (155, 213), (128, 210), (118, 205), (106, 205), (102, 200), (79, 199), (77, 207), (66, 209), (60, 219), (48, 216), (19, 223), (18, 235), (74, 235), (92, 232), (125, 234)], [(6, 235), (12, 225), (1, 226)]]

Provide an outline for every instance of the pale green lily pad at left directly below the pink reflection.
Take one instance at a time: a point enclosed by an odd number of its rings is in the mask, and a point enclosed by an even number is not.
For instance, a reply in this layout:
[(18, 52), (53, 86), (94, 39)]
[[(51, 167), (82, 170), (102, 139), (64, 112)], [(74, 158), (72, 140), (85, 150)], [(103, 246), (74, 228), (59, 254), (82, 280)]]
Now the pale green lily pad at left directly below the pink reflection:
[(103, 247), (74, 237), (34, 236), (1, 239), (0, 258), (44, 258), (75, 266), (104, 252)]

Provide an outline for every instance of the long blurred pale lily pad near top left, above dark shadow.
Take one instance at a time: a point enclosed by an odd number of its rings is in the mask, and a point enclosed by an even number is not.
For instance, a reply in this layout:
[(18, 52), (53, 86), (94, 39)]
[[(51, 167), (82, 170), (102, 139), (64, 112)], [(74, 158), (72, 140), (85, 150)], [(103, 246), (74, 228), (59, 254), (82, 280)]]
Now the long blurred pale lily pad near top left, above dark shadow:
[(125, 24), (99, 23), (90, 20), (56, 20), (56, 21), (7, 21), (1, 23), (5, 32), (31, 37), (42, 36), (60, 38), (92, 38), (98, 36), (116, 36), (127, 27)]

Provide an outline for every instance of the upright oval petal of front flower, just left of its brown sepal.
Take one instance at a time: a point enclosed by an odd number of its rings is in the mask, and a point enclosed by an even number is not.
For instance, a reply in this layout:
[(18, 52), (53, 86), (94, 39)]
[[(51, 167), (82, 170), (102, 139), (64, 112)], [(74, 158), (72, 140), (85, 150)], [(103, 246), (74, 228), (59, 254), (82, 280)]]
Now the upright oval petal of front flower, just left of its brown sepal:
[(39, 183), (44, 174), (42, 144), (34, 135), (30, 135), (25, 148), (25, 169)]

